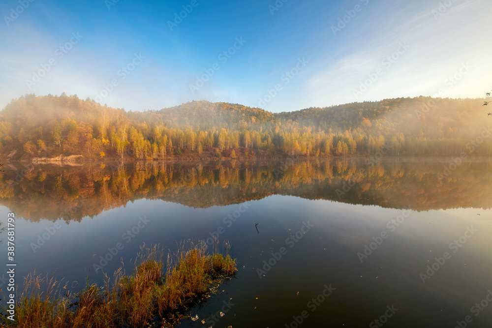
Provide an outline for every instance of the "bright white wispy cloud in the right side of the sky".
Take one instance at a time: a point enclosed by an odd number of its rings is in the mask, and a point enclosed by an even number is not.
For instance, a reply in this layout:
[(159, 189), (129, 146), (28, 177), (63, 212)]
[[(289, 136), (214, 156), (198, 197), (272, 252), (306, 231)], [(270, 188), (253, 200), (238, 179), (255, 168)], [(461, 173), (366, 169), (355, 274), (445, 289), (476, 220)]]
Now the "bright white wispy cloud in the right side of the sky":
[[(437, 8), (439, 4), (434, 5)], [(437, 19), (432, 8), (420, 8), (404, 20), (400, 14), (388, 17), (384, 30), (370, 35), (364, 44), (352, 45), (352, 52), (336, 62), (318, 63), (319, 72), (307, 81), (309, 98), (318, 106), (356, 101), (353, 90), (378, 67), (383, 74), (357, 101), (431, 95), (440, 88), (446, 89), (449, 97), (483, 96), (484, 88), (492, 82), (492, 44), (484, 42), (490, 39), (490, 29), (486, 27), (490, 27), (492, 3), (456, 3)], [(385, 15), (388, 13), (373, 16), (365, 24), (374, 25)], [(405, 41), (410, 48), (391, 66), (382, 65), (381, 60)], [(473, 68), (452, 88), (444, 86), (447, 78), (466, 63)]]

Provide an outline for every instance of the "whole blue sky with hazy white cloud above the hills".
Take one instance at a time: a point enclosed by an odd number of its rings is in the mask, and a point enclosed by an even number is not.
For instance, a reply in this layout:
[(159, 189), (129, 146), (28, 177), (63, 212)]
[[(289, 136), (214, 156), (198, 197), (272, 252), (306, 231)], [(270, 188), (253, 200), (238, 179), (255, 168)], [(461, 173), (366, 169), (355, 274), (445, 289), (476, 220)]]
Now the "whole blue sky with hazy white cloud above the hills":
[(3, 0), (0, 108), (64, 91), (281, 112), (492, 88), (491, 0), (283, 1)]

